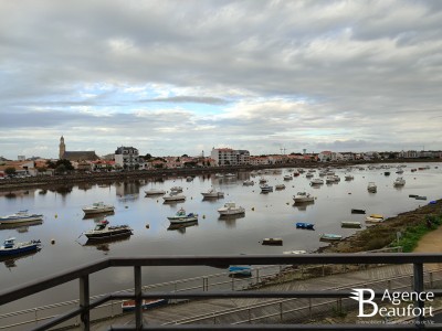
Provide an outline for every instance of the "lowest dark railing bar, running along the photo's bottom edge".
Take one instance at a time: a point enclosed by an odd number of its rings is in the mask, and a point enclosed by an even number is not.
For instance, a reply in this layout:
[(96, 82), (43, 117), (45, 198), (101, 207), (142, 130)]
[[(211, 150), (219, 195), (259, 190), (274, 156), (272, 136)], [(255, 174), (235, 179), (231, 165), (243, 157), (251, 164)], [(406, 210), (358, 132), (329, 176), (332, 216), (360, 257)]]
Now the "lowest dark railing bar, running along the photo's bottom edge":
[[(425, 329), (441, 330), (442, 324), (425, 324)], [(250, 330), (417, 330), (419, 329), (414, 324), (204, 324), (202, 325), (143, 325), (140, 330), (161, 330), (161, 331), (175, 331), (175, 330), (187, 330), (187, 331), (200, 331), (203, 330), (236, 330), (236, 331), (250, 331)], [(133, 331), (136, 330), (134, 327), (122, 325), (110, 327), (108, 330), (113, 331)]]

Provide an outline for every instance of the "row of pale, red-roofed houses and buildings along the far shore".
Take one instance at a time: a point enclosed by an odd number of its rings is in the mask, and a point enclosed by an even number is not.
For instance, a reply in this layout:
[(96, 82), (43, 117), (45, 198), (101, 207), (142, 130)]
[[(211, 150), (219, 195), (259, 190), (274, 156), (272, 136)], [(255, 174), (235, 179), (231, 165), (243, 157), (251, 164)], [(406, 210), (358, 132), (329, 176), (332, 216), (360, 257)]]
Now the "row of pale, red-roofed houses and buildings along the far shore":
[[(319, 153), (291, 153), (251, 156), (248, 150), (234, 150), (231, 148), (213, 148), (210, 157), (161, 157), (146, 158), (139, 154), (137, 148), (118, 147), (115, 153), (98, 158), (93, 153), (63, 152), (76, 170), (83, 171), (122, 171), (122, 170), (150, 170), (150, 169), (178, 169), (186, 167), (217, 167), (217, 166), (270, 166), (296, 162), (338, 162), (355, 160), (387, 160), (387, 159), (442, 159), (442, 151), (400, 151), (400, 152), (333, 152)], [(92, 157), (95, 156), (95, 157)], [(46, 160), (34, 158), (32, 160), (8, 161), (0, 160), (0, 178), (7, 175), (7, 168), (14, 168), (17, 175), (53, 174), (54, 169), (48, 169)]]

